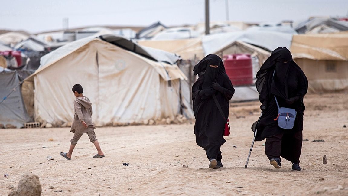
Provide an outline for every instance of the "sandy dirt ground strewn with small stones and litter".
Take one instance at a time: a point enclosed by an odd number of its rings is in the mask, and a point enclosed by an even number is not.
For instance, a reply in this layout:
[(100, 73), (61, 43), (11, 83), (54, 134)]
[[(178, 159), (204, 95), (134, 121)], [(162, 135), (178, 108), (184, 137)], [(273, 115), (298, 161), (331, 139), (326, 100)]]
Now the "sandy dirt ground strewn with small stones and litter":
[[(281, 169), (271, 166), (264, 141), (255, 143), (244, 168), (253, 139), (250, 126), (260, 115), (258, 102), (245, 102), (231, 104), (232, 133), (222, 146), (224, 167), (216, 170), (207, 168), (190, 123), (97, 128), (106, 157), (93, 158), (96, 150), (85, 134), (71, 161), (59, 155), (70, 145), (69, 128), (0, 130), (0, 195), (26, 172), (39, 176), (44, 196), (348, 195), (348, 128), (343, 127), (348, 126), (348, 95), (308, 95), (305, 104), (303, 139), (308, 141), (303, 141), (300, 172), (285, 159)], [(46, 160), (48, 155), (55, 159)]]

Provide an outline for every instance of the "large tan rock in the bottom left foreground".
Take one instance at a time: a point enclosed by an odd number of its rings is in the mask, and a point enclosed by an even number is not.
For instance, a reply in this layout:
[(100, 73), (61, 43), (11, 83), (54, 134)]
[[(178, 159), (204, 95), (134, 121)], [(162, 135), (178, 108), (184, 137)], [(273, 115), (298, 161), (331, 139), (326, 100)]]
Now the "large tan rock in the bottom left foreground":
[(8, 196), (40, 196), (41, 184), (39, 177), (34, 174), (23, 174), (18, 182), (18, 187), (15, 187)]

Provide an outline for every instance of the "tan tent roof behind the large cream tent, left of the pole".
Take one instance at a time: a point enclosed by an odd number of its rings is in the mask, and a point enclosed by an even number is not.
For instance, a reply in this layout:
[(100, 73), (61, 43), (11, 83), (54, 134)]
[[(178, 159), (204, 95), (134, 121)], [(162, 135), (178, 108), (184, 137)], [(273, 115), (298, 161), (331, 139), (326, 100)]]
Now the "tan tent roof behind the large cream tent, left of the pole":
[(143, 40), (139, 45), (150, 48), (161, 49), (170, 53), (180, 55), (185, 60), (204, 58), (204, 50), (201, 38), (176, 39), (176, 40)]

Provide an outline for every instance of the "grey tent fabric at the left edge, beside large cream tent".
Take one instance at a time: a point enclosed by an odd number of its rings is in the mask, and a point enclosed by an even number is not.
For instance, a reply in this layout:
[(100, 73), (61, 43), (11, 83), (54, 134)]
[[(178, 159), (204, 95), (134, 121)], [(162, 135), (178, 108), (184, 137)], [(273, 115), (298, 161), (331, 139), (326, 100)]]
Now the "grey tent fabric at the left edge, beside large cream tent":
[(0, 69), (0, 84), (0, 124), (23, 127), (31, 118), (23, 102), (19, 74)]

